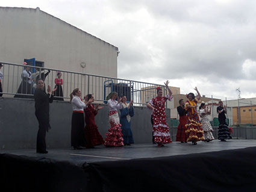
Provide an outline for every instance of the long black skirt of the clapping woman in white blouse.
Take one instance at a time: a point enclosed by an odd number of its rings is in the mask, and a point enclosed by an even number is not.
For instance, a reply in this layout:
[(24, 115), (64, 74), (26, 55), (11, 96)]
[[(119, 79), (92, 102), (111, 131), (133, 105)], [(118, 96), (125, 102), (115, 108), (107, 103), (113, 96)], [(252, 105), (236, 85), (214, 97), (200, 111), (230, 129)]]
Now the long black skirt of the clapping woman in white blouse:
[(86, 146), (86, 137), (84, 135), (84, 113), (72, 114), (71, 146)]

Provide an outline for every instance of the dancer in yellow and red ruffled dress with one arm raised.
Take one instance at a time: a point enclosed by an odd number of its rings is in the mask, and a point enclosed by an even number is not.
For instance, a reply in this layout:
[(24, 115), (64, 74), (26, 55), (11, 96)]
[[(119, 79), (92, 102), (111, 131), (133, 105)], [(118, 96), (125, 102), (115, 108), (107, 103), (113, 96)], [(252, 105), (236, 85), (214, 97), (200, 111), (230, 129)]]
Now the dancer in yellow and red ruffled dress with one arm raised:
[(187, 123), (186, 134), (188, 136), (187, 142), (192, 141), (192, 144), (198, 144), (197, 141), (204, 141), (204, 131), (202, 130), (202, 124), (199, 122), (198, 111), (196, 111), (196, 105), (201, 103), (201, 94), (198, 88), (195, 88), (198, 96), (195, 97), (194, 93), (189, 93), (187, 98), (189, 99), (185, 104), (187, 110)]

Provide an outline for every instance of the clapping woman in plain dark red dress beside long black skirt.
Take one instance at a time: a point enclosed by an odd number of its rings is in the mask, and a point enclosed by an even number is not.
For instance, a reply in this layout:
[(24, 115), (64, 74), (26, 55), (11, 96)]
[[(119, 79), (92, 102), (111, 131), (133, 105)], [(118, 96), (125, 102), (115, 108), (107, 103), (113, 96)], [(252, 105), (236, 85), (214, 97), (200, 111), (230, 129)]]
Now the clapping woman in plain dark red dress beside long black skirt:
[[(92, 94), (87, 94), (86, 101), (91, 100), (94, 102), (94, 98)], [(104, 140), (99, 134), (98, 126), (95, 123), (95, 116), (98, 114), (98, 111), (103, 107), (96, 105), (96, 108), (89, 104), (87, 108), (84, 110), (85, 120), (86, 120), (86, 128), (84, 129), (86, 135), (86, 148), (93, 148), (94, 146), (104, 144)]]

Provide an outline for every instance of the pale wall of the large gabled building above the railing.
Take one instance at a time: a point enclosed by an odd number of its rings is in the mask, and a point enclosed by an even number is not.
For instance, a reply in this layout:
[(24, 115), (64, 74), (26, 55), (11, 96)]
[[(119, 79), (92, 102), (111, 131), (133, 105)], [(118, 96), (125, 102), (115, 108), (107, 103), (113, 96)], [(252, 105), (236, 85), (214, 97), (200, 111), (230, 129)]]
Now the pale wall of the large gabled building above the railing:
[(39, 8), (0, 7), (0, 18), (0, 61), (36, 58), (53, 69), (117, 77), (115, 46)]

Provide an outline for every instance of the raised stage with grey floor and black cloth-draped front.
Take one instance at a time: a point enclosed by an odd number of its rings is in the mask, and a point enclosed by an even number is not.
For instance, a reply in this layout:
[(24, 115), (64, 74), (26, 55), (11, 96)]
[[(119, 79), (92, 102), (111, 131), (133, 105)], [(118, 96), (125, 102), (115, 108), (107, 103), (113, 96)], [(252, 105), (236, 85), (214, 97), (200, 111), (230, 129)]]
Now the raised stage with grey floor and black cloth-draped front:
[(48, 151), (1, 150), (0, 185), (5, 191), (256, 190), (256, 140)]

